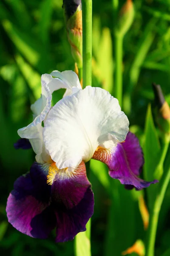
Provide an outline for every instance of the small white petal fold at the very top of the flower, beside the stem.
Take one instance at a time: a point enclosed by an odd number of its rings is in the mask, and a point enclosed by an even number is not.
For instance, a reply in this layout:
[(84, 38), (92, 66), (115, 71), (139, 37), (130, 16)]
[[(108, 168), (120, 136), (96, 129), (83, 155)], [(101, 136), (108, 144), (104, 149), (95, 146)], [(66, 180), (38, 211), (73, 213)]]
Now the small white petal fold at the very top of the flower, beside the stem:
[(82, 90), (79, 78), (77, 74), (72, 70), (66, 70), (63, 72), (54, 70), (51, 72), (51, 76), (55, 77), (55, 79), (59, 79), (63, 83), (63, 87), (61, 88), (66, 88), (64, 97), (74, 93), (72, 92), (73, 87), (77, 87), (79, 90)]

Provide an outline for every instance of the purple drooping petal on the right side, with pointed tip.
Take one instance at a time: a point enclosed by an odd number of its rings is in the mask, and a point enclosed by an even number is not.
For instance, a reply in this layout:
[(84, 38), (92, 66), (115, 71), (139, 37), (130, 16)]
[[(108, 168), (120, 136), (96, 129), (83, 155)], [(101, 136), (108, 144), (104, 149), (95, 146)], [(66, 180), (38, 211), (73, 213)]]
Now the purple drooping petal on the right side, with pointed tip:
[[(99, 153), (96, 152), (93, 158), (100, 160), (101, 152)], [(158, 182), (158, 180), (147, 182), (138, 177), (144, 164), (144, 158), (139, 140), (131, 132), (128, 132), (125, 142), (118, 143), (111, 152), (104, 154), (105, 157), (102, 157), (102, 162), (108, 165), (109, 175), (125, 184), (126, 189), (135, 187), (136, 190), (141, 190), (152, 183)]]

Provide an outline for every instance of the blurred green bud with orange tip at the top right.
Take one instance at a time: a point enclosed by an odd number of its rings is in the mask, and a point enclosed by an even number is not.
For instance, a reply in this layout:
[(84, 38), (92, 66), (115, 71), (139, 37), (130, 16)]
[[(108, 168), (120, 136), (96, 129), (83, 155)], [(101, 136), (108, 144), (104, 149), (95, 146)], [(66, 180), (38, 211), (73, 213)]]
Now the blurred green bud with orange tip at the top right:
[(130, 29), (134, 18), (134, 7), (132, 0), (127, 0), (122, 6), (118, 17), (118, 29), (117, 32), (124, 36)]

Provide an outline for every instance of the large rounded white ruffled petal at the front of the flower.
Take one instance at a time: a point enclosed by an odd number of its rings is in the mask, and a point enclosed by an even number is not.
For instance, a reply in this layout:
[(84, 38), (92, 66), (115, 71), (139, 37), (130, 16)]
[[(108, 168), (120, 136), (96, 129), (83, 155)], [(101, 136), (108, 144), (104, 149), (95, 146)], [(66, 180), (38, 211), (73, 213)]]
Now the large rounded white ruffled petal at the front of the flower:
[(59, 169), (75, 168), (90, 160), (99, 145), (125, 140), (128, 126), (118, 100), (106, 90), (88, 86), (49, 111), (43, 140)]

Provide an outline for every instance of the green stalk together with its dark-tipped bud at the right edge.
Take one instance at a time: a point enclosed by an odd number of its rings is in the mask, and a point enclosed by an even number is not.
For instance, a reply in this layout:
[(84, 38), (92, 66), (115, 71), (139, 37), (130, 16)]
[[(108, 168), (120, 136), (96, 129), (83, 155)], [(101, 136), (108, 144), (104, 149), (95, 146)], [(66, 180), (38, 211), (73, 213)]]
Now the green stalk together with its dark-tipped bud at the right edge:
[(159, 179), (161, 178), (161, 181), (157, 189), (157, 194), (155, 197), (155, 201), (153, 203), (153, 208), (151, 209), (150, 212), (150, 221), (147, 233), (146, 256), (154, 256), (159, 212), (161, 209), (162, 202), (164, 200), (164, 195), (168, 183), (170, 181), (170, 168), (167, 170), (167, 172), (163, 173), (164, 160), (167, 155), (167, 151), (170, 144), (170, 107), (164, 99), (164, 95), (159, 84), (153, 84), (153, 92), (155, 96), (156, 105), (156, 120), (162, 132), (163, 145), (159, 163), (154, 173), (154, 176)]

